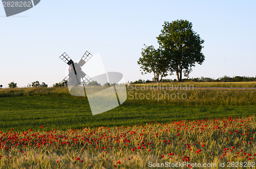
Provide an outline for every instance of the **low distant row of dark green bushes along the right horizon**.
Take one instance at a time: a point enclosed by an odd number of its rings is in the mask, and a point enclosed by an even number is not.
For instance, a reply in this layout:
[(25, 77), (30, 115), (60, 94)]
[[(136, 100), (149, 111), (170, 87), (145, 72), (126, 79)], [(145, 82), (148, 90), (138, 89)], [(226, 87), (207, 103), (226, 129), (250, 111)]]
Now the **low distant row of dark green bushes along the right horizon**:
[[(135, 82), (131, 82), (131, 84), (141, 84), (141, 83), (154, 83), (154, 80), (136, 80)], [(177, 79), (162, 79), (160, 83), (169, 83), (169, 82), (178, 82)], [(246, 76), (223, 76), (218, 79), (212, 79), (212, 78), (188, 78), (188, 79), (182, 79), (182, 82), (256, 82), (256, 76), (255, 77), (246, 77)]]

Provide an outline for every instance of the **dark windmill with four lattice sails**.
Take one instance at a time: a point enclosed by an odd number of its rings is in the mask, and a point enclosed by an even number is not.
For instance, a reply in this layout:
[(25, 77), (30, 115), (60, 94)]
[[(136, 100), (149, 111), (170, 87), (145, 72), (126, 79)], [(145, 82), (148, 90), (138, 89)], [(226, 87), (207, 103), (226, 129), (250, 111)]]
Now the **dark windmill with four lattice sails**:
[(93, 80), (86, 75), (81, 68), (92, 57), (93, 55), (86, 51), (81, 60), (76, 63), (66, 53), (63, 53), (59, 58), (70, 66), (69, 75), (63, 79), (63, 81), (67, 81), (69, 86), (79, 86), (81, 84), (88, 85), (89, 83), (93, 82)]

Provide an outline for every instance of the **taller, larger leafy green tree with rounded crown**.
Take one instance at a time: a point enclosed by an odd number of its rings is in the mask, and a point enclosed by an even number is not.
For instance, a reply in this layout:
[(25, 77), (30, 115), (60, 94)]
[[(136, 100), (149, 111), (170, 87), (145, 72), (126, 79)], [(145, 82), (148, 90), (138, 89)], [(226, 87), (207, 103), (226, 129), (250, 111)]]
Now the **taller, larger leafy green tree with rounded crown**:
[(195, 63), (204, 61), (201, 52), (204, 40), (193, 31), (192, 23), (187, 20), (165, 21), (157, 39), (169, 62), (169, 71), (176, 72), (178, 82), (182, 81), (182, 72), (188, 77)]

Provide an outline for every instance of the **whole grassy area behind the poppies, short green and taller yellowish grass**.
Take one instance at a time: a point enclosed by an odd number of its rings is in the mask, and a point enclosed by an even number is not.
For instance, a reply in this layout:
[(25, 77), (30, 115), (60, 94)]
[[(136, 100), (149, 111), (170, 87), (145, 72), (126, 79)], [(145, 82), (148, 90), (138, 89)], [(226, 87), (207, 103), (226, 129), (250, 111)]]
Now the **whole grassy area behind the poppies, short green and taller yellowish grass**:
[[(251, 82), (249, 82), (251, 83)], [(174, 120), (205, 119), (219, 116), (247, 116), (255, 114), (256, 90), (195, 89), (180, 91), (186, 100), (139, 99), (132, 94), (150, 90), (128, 90), (130, 94), (121, 106), (92, 115), (87, 98), (71, 96), (67, 87), (17, 88), (0, 90), (0, 131), (13, 128), (67, 130), (82, 127), (122, 126), (148, 123), (153, 120), (168, 123)], [(164, 90), (154, 90), (163, 93)], [(176, 90), (168, 90), (176, 93)]]

